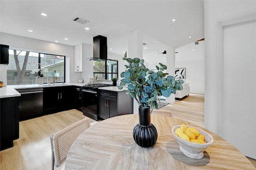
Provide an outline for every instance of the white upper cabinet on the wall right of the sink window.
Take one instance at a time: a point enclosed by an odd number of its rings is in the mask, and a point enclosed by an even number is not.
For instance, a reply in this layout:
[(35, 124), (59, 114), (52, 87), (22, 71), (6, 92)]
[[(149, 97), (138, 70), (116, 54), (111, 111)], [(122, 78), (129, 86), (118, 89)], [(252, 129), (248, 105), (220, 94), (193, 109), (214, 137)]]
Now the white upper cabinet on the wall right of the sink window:
[(83, 71), (83, 44), (75, 46), (74, 54), (74, 71), (82, 72)]

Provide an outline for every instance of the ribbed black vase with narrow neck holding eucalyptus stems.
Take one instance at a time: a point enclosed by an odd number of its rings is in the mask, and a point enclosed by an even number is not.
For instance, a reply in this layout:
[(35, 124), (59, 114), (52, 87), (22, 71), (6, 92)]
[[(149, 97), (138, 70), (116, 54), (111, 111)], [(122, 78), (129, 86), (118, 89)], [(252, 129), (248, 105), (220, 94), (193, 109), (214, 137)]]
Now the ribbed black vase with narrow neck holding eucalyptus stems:
[(151, 124), (150, 107), (139, 107), (139, 123), (133, 129), (133, 139), (141, 147), (152, 147), (157, 140), (156, 127)]

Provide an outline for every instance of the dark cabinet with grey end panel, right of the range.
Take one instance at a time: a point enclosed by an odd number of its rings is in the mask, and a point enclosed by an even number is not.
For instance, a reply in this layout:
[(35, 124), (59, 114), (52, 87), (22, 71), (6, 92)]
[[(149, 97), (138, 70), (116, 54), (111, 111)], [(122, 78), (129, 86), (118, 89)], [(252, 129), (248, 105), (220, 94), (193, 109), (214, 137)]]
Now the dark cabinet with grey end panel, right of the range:
[(114, 92), (100, 90), (99, 117), (108, 119), (110, 117), (132, 114), (133, 99), (125, 92)]

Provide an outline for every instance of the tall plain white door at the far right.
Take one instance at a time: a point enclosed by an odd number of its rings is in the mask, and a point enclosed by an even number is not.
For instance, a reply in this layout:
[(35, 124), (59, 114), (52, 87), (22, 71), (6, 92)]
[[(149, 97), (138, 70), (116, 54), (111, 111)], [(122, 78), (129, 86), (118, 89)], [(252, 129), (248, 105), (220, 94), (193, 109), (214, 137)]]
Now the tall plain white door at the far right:
[(222, 137), (256, 159), (256, 22), (223, 29)]

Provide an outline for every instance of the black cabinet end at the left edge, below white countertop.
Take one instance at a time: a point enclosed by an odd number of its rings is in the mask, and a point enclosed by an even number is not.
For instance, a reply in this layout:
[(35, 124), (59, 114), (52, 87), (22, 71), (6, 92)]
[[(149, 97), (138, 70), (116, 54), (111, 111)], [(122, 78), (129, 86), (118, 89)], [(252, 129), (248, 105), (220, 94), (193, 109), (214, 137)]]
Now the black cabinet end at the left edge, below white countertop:
[(0, 99), (0, 150), (13, 146), (19, 138), (19, 97)]

